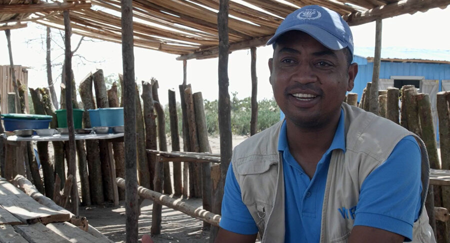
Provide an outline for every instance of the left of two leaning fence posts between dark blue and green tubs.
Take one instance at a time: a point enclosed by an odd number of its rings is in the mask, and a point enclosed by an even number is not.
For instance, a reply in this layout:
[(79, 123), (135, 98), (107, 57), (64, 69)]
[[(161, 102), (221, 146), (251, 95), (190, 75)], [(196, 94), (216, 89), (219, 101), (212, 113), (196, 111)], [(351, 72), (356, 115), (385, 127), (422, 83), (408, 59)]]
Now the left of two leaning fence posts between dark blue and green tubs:
[[(29, 88), (31, 100), (33, 101), (34, 113), (45, 115), (45, 109), (42, 104), (42, 96), (37, 89)], [(37, 153), (39, 155), (40, 165), (42, 166), (43, 182), (45, 196), (53, 198), (54, 170), (48, 159), (48, 142), (37, 142)]]

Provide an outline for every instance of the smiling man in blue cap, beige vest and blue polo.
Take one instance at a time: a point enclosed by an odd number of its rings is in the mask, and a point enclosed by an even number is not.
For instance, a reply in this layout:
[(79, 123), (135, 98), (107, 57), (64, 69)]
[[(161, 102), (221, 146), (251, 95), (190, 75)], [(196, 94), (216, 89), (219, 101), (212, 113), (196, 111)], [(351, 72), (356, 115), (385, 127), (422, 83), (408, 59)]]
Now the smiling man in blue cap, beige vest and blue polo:
[(342, 103), (358, 69), (347, 23), (305, 6), (267, 44), (286, 119), (234, 149), (216, 243), (253, 243), (258, 232), (263, 243), (434, 242), (423, 142)]

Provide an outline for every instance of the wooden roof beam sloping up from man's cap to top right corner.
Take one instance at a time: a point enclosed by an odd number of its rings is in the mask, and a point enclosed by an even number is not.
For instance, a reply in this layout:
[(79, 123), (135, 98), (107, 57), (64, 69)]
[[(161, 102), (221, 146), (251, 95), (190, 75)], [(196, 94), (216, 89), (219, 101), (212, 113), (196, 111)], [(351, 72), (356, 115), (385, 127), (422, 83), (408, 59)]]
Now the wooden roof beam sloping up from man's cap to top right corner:
[(379, 18), (388, 18), (404, 13), (428, 10), (450, 4), (450, 0), (401, 0), (395, 3), (378, 6), (367, 11), (344, 15), (348, 25), (359, 25)]

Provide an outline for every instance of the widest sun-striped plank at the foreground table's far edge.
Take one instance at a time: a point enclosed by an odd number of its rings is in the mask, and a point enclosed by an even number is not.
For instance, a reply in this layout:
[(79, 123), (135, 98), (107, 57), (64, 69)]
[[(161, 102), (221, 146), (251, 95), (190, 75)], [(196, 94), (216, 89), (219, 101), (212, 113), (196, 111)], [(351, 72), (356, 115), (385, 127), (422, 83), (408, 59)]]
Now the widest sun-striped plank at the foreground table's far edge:
[(69, 221), (70, 215), (43, 207), (7, 181), (0, 181), (0, 205), (24, 223)]

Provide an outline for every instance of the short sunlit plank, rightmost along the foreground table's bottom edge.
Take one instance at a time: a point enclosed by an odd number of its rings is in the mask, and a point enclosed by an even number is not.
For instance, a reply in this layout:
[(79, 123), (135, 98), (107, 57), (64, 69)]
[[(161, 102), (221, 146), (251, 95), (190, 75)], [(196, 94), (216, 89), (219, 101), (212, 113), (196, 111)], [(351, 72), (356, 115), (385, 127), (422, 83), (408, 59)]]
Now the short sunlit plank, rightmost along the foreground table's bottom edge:
[(65, 240), (72, 242), (72, 243), (102, 243), (107, 241), (102, 241), (102, 239), (98, 239), (89, 233), (79, 229), (78, 227), (68, 223), (68, 222), (61, 222), (61, 223), (51, 223), (47, 224), (46, 227), (53, 231), (54, 233), (58, 234)]

